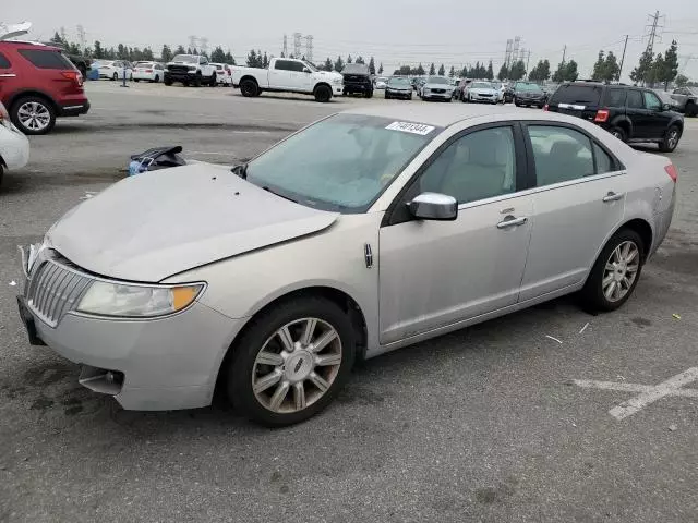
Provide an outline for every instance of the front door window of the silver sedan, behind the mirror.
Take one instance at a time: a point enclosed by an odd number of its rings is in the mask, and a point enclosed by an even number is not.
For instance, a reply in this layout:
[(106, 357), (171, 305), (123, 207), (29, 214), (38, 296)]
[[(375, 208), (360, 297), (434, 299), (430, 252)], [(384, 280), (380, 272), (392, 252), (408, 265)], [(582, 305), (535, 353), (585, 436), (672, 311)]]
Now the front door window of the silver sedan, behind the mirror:
[(447, 194), (459, 204), (516, 191), (516, 151), (512, 127), (467, 134), (426, 168), (420, 192)]

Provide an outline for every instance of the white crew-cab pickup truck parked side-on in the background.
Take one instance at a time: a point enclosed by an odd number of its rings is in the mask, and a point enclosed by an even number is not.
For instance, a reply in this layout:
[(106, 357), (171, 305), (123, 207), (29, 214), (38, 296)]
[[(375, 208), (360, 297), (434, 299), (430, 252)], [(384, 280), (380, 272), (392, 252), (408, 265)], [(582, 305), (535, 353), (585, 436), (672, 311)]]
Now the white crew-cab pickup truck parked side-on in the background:
[(242, 96), (260, 96), (264, 90), (313, 95), (317, 101), (329, 101), (341, 95), (341, 74), (318, 71), (312, 63), (291, 58), (273, 58), (268, 69), (232, 66), (232, 86)]

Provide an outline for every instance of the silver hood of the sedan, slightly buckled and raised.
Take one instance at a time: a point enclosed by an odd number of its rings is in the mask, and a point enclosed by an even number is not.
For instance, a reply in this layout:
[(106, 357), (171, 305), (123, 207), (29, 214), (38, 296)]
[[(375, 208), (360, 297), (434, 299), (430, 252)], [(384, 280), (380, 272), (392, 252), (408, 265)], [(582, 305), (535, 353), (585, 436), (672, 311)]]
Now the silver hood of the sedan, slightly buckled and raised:
[(339, 215), (284, 199), (209, 163), (122, 180), (70, 210), (46, 241), (86, 270), (157, 282), (329, 227)]

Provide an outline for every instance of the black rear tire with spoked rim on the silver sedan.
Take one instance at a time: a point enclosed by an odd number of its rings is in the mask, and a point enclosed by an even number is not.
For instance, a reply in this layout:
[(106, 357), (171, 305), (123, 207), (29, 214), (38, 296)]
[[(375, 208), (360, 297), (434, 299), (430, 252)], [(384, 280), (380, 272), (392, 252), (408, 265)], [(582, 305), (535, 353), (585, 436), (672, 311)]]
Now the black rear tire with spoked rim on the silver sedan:
[[(635, 270), (633, 272), (624, 272), (623, 267), (621, 267), (619, 269), (617, 269), (617, 271), (613, 271), (610, 266), (615, 264), (614, 259), (617, 259), (615, 258), (616, 250), (624, 250), (624, 245), (627, 244), (634, 245), (637, 253), (635, 255), (635, 258), (629, 264), (627, 264), (628, 268), (634, 268)], [(593, 312), (609, 312), (615, 311), (616, 308), (621, 307), (633, 295), (637, 282), (640, 279), (640, 273), (642, 272), (642, 265), (645, 264), (645, 256), (647, 253), (646, 248), (647, 247), (645, 246), (645, 242), (642, 242), (640, 235), (634, 230), (621, 229), (618, 232), (616, 232), (603, 247), (601, 254), (599, 255), (599, 258), (597, 258), (597, 262), (591, 268), (591, 272), (589, 272), (589, 278), (587, 278), (587, 282), (585, 283), (585, 287), (581, 291), (581, 299), (583, 304)], [(606, 267), (607, 265), (609, 267)], [(625, 276), (623, 276), (623, 273), (625, 273)], [(631, 279), (629, 287), (626, 287), (625, 284), (622, 285), (623, 282), (627, 282), (625, 278), (629, 278), (629, 275), (631, 273), (634, 273), (635, 277), (634, 279)], [(607, 283), (604, 292), (604, 278), (610, 277), (613, 277), (613, 279), (610, 283)], [(616, 278), (622, 277), (623, 279), (621, 281), (616, 281)], [(615, 287), (613, 290), (611, 290), (611, 299), (609, 299), (610, 285), (614, 281)], [(622, 285), (621, 291), (618, 291), (619, 297), (616, 296), (615, 293), (615, 289), (618, 285)], [(625, 294), (621, 294), (621, 292), (625, 292)]]

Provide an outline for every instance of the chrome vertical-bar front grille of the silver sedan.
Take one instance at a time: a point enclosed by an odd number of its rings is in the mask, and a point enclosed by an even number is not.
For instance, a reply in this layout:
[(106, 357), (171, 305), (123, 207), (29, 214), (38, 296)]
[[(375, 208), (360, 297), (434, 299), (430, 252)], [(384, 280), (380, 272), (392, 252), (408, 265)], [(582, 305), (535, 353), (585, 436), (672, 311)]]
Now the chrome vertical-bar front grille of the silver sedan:
[(26, 285), (27, 306), (56, 327), (72, 311), (93, 279), (56, 259), (38, 259)]

